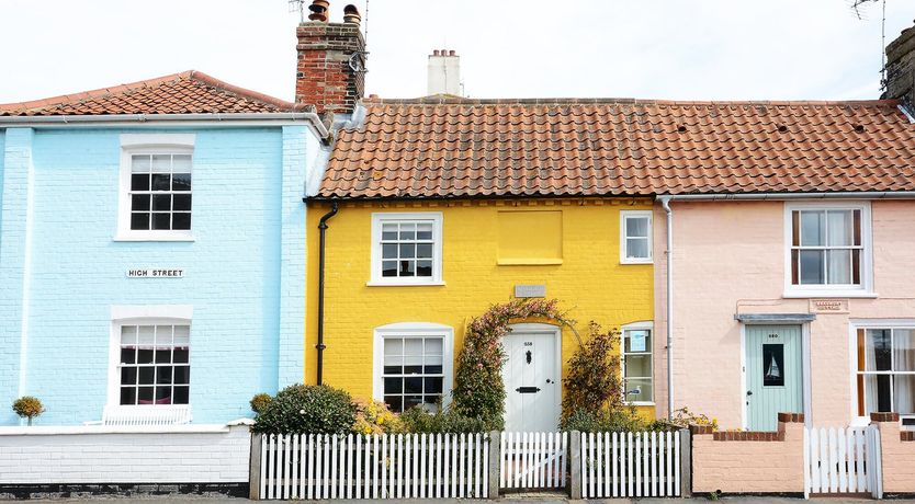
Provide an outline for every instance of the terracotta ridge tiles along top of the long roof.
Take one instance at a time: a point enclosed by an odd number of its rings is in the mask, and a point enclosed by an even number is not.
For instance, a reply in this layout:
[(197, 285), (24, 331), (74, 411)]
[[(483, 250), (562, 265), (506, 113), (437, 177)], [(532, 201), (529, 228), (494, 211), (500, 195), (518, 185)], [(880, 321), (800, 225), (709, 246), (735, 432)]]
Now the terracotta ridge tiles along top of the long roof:
[(643, 100), (634, 98), (521, 98), (470, 99), (448, 94), (411, 99), (383, 99), (369, 96), (365, 105), (675, 105), (675, 106), (892, 106), (899, 100)]

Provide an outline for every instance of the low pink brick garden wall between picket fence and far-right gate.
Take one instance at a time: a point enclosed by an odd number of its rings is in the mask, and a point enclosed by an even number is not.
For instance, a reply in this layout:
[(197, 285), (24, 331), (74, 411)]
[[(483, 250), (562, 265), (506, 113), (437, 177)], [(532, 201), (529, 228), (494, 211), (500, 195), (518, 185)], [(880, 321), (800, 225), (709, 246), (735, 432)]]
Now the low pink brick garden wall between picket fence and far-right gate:
[(692, 432), (698, 493), (803, 493), (803, 415), (779, 414), (776, 433)]

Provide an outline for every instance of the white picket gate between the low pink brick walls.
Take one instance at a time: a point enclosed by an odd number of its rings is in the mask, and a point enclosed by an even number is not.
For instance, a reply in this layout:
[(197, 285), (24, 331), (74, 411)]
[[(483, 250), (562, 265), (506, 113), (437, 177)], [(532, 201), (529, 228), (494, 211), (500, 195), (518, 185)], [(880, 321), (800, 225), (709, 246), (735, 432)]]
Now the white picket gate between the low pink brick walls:
[(871, 493), (881, 499), (880, 431), (804, 428), (804, 496)]

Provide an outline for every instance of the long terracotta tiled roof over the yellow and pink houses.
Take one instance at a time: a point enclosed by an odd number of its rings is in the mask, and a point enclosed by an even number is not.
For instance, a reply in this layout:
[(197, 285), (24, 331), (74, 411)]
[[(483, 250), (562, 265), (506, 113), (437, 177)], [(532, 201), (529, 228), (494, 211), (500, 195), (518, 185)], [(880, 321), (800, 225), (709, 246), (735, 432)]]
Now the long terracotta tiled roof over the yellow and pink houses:
[(914, 191), (895, 101), (366, 101), (318, 197)]

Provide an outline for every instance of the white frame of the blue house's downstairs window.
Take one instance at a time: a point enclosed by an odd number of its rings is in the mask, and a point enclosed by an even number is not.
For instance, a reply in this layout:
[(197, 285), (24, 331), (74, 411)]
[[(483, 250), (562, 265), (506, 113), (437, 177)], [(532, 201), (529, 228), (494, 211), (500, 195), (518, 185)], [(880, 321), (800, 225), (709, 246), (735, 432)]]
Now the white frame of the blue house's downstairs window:
[(191, 393), (193, 380), (188, 381), (187, 404), (121, 404), (121, 328), (124, 325), (188, 325), (190, 328), (188, 343), (188, 366), (193, 368), (193, 307), (189, 305), (146, 305), (146, 306), (113, 306), (111, 308), (111, 328), (109, 336), (109, 369), (108, 393), (105, 409), (148, 411), (150, 406), (157, 410), (166, 408), (190, 408), (193, 396)]

